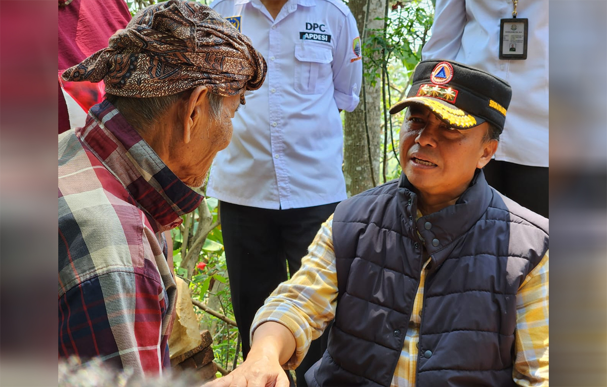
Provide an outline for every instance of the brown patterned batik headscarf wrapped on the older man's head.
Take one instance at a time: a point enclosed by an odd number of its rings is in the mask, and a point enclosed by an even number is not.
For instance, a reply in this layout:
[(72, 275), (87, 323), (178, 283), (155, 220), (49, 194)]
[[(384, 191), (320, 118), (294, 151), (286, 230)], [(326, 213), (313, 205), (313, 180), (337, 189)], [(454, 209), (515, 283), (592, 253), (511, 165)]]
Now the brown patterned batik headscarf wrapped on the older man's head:
[(107, 49), (61, 78), (103, 79), (106, 93), (127, 97), (166, 96), (200, 85), (231, 96), (259, 89), (267, 69), (251, 40), (219, 13), (198, 2), (170, 0), (141, 10)]

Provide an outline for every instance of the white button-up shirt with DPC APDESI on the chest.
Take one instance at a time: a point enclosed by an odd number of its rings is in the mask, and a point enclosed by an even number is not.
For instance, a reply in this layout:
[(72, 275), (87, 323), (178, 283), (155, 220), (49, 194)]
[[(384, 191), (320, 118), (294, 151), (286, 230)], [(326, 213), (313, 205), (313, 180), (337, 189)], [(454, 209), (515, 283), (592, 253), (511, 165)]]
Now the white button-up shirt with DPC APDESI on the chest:
[(275, 20), (260, 0), (217, 0), (211, 7), (240, 24), (268, 73), (260, 89), (245, 93), (206, 194), (266, 209), (344, 200), (338, 109), (354, 110), (362, 81), (360, 39), (347, 5), (288, 0)]

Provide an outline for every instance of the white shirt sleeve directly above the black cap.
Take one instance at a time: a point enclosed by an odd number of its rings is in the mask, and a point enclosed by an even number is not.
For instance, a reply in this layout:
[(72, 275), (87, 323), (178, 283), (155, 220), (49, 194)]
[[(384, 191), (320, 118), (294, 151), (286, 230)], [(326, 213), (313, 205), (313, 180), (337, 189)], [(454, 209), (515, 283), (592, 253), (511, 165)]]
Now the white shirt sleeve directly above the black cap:
[(422, 59), (455, 59), (466, 21), (466, 0), (436, 0), (432, 35), (421, 50)]

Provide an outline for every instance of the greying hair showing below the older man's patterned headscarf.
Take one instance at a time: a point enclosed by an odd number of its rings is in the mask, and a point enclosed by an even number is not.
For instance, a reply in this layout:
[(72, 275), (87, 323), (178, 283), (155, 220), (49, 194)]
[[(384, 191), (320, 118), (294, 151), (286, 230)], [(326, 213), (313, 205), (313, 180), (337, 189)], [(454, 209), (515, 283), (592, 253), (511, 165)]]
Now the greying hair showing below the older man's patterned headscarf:
[[(154, 126), (154, 121), (157, 121), (169, 107), (182, 98), (188, 98), (191, 93), (192, 89), (177, 94), (148, 98), (125, 97), (106, 93), (105, 98), (124, 115), (129, 124), (142, 132), (146, 132)], [(211, 119), (216, 123), (220, 122), (224, 97), (209, 92), (208, 98)]]

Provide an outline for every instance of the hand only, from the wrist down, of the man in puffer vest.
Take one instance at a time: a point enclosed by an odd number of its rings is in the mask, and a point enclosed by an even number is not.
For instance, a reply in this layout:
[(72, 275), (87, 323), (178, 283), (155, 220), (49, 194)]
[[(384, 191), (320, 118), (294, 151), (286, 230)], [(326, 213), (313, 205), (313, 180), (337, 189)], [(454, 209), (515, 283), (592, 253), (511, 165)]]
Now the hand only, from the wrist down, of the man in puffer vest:
[(205, 387), (289, 387), (289, 379), (278, 362), (267, 355), (250, 352), (245, 362), (228, 375), (207, 383)]

